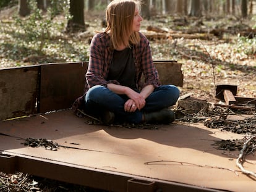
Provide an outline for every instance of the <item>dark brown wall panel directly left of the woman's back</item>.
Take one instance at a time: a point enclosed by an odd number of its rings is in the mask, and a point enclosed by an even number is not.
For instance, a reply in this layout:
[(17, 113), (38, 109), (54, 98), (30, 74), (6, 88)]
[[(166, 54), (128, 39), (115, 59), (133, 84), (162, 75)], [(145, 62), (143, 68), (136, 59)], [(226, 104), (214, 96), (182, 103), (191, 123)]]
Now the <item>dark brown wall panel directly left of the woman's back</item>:
[(83, 94), (88, 62), (41, 65), (40, 112), (72, 107)]

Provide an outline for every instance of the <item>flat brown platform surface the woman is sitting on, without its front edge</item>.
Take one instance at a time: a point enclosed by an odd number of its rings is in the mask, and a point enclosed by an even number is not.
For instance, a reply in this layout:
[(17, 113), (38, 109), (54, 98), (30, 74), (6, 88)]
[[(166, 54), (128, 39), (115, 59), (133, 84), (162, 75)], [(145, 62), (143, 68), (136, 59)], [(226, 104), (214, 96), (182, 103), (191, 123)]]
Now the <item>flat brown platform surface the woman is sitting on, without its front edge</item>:
[[(87, 120), (75, 117), (71, 111), (61, 111), (0, 122), (0, 133), (16, 137), (0, 135), (0, 150), (134, 177), (228, 191), (256, 191), (255, 180), (236, 167), (239, 151), (221, 151), (212, 146), (215, 140), (244, 135), (213, 130), (200, 123), (174, 122), (148, 130), (89, 125)], [(70, 148), (28, 148), (17, 137), (47, 138)], [(247, 159), (250, 163), (244, 166), (255, 171), (256, 157)]]

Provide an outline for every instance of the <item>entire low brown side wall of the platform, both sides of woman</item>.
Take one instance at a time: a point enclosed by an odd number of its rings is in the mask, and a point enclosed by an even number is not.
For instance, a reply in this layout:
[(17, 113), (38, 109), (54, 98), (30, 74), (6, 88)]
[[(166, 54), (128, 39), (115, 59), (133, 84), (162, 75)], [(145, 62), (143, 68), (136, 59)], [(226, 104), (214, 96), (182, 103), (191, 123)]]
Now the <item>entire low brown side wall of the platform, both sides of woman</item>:
[[(155, 61), (155, 65), (162, 84), (183, 85), (181, 64)], [(87, 67), (88, 62), (75, 62), (0, 70), (0, 120), (70, 108), (83, 94)]]

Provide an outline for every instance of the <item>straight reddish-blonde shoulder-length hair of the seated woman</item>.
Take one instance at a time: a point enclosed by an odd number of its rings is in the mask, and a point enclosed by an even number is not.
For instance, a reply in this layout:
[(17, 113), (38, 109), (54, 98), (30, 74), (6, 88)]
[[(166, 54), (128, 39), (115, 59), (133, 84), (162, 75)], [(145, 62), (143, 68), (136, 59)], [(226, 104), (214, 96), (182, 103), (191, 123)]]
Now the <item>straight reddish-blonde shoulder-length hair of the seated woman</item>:
[(121, 44), (130, 47), (140, 43), (139, 33), (132, 28), (136, 6), (140, 9), (140, 1), (113, 0), (106, 8), (105, 32), (109, 33), (114, 49)]

